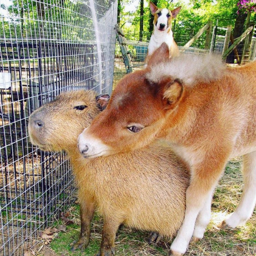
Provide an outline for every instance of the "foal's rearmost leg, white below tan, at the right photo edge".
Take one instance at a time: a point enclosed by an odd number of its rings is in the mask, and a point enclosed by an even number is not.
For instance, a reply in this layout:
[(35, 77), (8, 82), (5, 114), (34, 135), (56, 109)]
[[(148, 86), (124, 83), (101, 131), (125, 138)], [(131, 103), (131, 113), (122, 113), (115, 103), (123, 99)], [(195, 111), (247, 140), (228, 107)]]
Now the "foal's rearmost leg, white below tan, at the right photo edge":
[(244, 191), (236, 210), (225, 220), (228, 227), (245, 224), (256, 203), (256, 151), (243, 156)]

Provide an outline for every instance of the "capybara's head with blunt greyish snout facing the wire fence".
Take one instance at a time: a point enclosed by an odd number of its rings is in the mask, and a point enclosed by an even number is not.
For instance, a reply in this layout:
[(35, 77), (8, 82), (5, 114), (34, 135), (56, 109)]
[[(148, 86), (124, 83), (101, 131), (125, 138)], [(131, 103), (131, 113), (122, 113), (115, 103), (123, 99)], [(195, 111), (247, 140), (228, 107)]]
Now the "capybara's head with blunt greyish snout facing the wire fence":
[(79, 133), (106, 107), (108, 99), (108, 95), (85, 90), (60, 94), (30, 115), (31, 142), (42, 150), (73, 149)]

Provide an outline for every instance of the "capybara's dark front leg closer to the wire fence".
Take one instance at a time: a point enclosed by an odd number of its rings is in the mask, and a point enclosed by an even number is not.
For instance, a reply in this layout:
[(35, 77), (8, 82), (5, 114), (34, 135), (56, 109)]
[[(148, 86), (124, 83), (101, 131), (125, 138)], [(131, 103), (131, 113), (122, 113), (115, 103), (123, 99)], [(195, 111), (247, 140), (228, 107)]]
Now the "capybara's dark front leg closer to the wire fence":
[(71, 244), (71, 251), (76, 249), (84, 250), (89, 243), (91, 222), (94, 213), (94, 204), (92, 200), (81, 201), (80, 203), (80, 218), (81, 218), (81, 231), (78, 241)]

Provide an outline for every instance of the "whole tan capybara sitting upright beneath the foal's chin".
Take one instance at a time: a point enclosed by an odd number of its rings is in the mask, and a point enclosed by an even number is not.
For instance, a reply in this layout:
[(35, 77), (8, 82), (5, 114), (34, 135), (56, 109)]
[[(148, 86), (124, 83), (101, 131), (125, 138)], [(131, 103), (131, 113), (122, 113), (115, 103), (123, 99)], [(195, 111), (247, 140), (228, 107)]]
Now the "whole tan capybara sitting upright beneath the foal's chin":
[[(185, 214), (189, 174), (170, 147), (154, 143), (109, 157), (84, 159), (77, 137), (106, 105), (92, 91), (62, 93), (29, 117), (29, 136), (42, 150), (65, 150), (70, 156), (81, 204), (81, 233), (73, 249), (89, 242), (94, 209), (103, 216), (98, 255), (114, 253), (121, 223), (172, 237)], [(105, 111), (105, 110), (104, 110)]]

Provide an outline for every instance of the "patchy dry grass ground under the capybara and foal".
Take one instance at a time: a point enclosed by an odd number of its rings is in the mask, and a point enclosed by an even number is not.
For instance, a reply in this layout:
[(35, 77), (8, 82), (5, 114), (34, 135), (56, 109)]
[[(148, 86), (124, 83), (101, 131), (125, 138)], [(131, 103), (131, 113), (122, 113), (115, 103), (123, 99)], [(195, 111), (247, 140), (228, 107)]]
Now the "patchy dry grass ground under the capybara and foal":
[[(240, 159), (233, 159), (226, 168), (221, 178), (212, 203), (212, 219), (205, 232), (204, 238), (197, 242), (191, 242), (185, 255), (193, 256), (252, 256), (256, 255), (256, 214), (242, 227), (234, 230), (220, 230), (217, 225), (231, 213), (238, 204), (243, 187), (240, 173)], [(100, 245), (102, 219), (94, 218), (91, 231), (91, 240), (88, 248), (81, 252), (70, 251), (70, 243), (79, 235), (78, 206), (70, 209), (71, 219), (78, 225), (67, 228), (59, 238), (53, 240), (50, 247), (44, 246), (37, 255), (94, 255)], [(116, 238), (116, 256), (160, 256), (168, 255), (171, 241), (161, 240), (158, 245), (148, 245), (146, 242), (148, 232), (134, 231), (127, 227), (120, 227)]]

